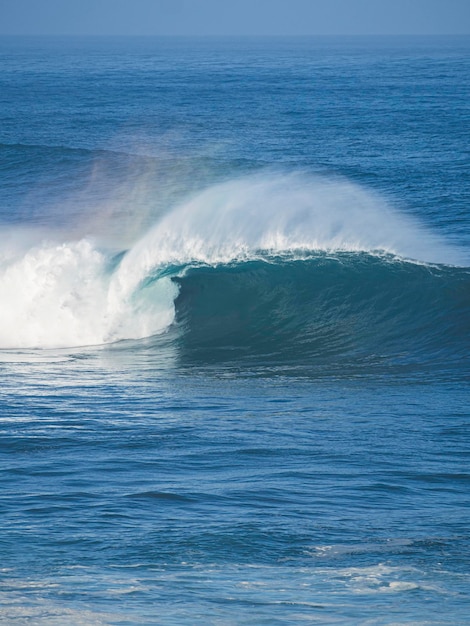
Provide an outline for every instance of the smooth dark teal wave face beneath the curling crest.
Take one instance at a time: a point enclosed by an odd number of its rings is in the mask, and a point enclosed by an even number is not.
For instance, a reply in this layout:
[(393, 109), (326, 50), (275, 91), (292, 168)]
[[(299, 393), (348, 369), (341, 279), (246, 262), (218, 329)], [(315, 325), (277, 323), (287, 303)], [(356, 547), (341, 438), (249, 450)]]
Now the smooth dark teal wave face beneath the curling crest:
[(361, 252), (199, 267), (177, 279), (185, 346), (294, 363), (459, 362), (470, 274)]

